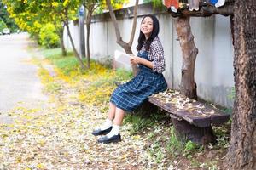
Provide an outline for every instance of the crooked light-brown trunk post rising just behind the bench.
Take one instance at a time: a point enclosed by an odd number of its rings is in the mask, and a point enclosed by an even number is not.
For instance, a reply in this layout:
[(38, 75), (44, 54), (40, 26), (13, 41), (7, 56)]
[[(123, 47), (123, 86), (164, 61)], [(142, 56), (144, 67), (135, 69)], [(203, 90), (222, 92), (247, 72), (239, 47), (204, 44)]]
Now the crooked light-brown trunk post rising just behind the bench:
[(195, 59), (198, 49), (195, 47), (189, 17), (177, 18), (175, 21), (177, 36), (183, 54), (182, 80), (180, 90), (191, 99), (197, 99), (195, 84)]

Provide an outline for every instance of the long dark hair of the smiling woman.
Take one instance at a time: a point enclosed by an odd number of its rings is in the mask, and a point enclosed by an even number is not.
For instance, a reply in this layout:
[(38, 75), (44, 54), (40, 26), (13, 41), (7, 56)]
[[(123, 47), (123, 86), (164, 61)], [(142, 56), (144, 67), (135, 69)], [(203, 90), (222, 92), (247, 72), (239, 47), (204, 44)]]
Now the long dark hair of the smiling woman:
[[(146, 18), (146, 17), (150, 17), (152, 20), (153, 20), (153, 30), (152, 30), (152, 33), (151, 33), (151, 36), (148, 37), (148, 39), (146, 40), (146, 37), (145, 35), (143, 34), (142, 31), (140, 31), (140, 35), (137, 39), (137, 51), (141, 50), (143, 48), (143, 44), (145, 42), (145, 48), (146, 50), (148, 51), (149, 50), (149, 47), (150, 47), (150, 44), (151, 42), (154, 40), (155, 37), (158, 36), (158, 33), (159, 33), (159, 21), (158, 19), (153, 15), (153, 14), (147, 14), (143, 17), (143, 20)], [(143, 22), (142, 20), (142, 22)]]

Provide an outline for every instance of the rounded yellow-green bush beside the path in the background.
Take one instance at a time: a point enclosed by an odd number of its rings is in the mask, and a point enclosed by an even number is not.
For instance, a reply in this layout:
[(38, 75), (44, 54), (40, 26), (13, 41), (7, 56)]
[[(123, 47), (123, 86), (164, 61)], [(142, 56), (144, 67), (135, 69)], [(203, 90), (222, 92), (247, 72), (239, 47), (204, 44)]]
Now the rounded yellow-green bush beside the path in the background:
[(60, 47), (60, 38), (53, 24), (48, 23), (40, 29), (39, 42), (46, 48)]

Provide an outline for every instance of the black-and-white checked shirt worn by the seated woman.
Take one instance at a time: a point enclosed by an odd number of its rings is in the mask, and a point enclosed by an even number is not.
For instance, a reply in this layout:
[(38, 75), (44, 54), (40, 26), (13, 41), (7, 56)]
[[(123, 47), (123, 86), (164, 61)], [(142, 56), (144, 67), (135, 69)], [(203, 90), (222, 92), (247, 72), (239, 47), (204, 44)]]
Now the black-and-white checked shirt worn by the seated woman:
[[(145, 51), (145, 47), (141, 49), (142, 51)], [(153, 64), (153, 71), (162, 73), (166, 70), (166, 63), (164, 58), (164, 49), (160, 42), (159, 37), (155, 37), (153, 42), (150, 44), (150, 48), (148, 50), (148, 58), (150, 61), (152, 61)]]

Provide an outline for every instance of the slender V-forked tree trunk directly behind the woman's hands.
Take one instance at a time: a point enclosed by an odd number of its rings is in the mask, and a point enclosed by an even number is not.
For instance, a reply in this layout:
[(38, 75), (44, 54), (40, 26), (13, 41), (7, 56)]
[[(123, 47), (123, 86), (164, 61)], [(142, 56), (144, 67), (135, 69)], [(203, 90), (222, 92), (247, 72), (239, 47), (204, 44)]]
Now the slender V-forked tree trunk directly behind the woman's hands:
[[(134, 34), (135, 34), (135, 29), (136, 29), (136, 25), (137, 25), (137, 6), (138, 6), (138, 0), (136, 0), (136, 5), (134, 7), (134, 18), (133, 18), (133, 24), (132, 24), (132, 28), (131, 28), (131, 38), (130, 38), (130, 42), (124, 42), (121, 35), (120, 35), (120, 30), (119, 30), (119, 26), (115, 17), (115, 14), (113, 13), (113, 7), (111, 5), (110, 0), (107, 0), (107, 5), (108, 5), (108, 9), (109, 9), (109, 14), (111, 16), (111, 19), (113, 21), (113, 26), (114, 26), (114, 30), (115, 30), (115, 34), (116, 34), (116, 39), (117, 39), (117, 43), (119, 44), (119, 46), (121, 46), (122, 48), (125, 49), (125, 53), (126, 54), (133, 54), (132, 50), (131, 50), (131, 45), (134, 39)], [(131, 65), (132, 67), (132, 71), (133, 71), (133, 75), (137, 75), (138, 69), (137, 69), (137, 65)]]

